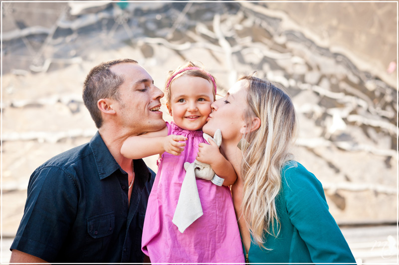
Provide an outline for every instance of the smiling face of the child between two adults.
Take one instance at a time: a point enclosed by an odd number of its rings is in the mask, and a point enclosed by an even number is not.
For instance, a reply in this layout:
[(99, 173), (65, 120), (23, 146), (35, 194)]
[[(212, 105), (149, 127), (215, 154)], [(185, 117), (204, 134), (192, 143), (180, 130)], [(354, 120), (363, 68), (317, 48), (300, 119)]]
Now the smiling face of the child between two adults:
[(182, 129), (202, 129), (211, 113), (213, 84), (201, 77), (184, 75), (173, 81), (171, 106), (167, 106), (174, 122)]

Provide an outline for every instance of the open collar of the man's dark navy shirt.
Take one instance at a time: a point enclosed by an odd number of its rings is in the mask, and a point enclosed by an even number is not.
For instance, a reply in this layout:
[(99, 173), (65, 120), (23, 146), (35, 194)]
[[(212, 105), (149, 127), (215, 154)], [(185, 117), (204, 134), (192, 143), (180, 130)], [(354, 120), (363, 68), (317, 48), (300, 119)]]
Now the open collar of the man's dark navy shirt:
[[(109, 151), (107, 145), (105, 145), (105, 142), (101, 138), (101, 135), (98, 131), (93, 136), (93, 138), (91, 138), (89, 144), (93, 152), (94, 160), (96, 161), (96, 166), (100, 179), (108, 177), (118, 169), (123, 174), (126, 174), (125, 170), (121, 168), (121, 166), (112, 156), (111, 152)], [(151, 180), (151, 172), (143, 159), (134, 160), (134, 167), (136, 176), (138, 176), (142, 181)]]

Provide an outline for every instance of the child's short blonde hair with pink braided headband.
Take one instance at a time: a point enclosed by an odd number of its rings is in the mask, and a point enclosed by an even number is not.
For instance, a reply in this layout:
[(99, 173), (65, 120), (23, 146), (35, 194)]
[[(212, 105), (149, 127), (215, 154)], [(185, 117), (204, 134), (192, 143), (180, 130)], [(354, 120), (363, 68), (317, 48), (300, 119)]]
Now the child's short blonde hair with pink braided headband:
[[(198, 66), (197, 64), (186, 61), (186, 63), (180, 65), (174, 71), (169, 71), (168, 78), (166, 79), (165, 83), (165, 100), (166, 106), (171, 106), (171, 86), (174, 80), (178, 79), (181, 76), (188, 75), (194, 77), (200, 77), (203, 79), (208, 80), (213, 85), (213, 101), (216, 97), (216, 81), (213, 75), (209, 74), (205, 71), (202, 67)], [(169, 108), (169, 107), (168, 107)]]

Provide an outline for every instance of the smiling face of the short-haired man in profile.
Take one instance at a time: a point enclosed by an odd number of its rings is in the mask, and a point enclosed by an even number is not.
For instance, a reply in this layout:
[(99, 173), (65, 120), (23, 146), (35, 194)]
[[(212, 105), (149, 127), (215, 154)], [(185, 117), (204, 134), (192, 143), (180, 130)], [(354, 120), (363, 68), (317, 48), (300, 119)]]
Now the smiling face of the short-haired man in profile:
[(132, 134), (159, 131), (165, 127), (160, 111), (164, 93), (153, 84), (147, 71), (138, 64), (121, 63), (110, 68), (124, 78), (119, 87), (120, 100), (115, 105), (122, 130)]

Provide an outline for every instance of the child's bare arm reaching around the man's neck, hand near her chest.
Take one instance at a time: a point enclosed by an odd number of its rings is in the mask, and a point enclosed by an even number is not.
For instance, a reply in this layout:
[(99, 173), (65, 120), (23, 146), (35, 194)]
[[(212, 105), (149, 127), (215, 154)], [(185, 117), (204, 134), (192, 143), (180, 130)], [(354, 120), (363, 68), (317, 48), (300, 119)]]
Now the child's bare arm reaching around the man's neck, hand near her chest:
[(154, 154), (168, 152), (179, 155), (186, 145), (187, 138), (183, 135), (168, 135), (168, 128), (158, 132), (145, 133), (139, 136), (130, 136), (121, 148), (121, 154), (126, 158), (139, 159)]

